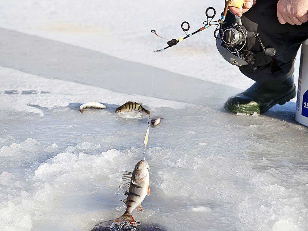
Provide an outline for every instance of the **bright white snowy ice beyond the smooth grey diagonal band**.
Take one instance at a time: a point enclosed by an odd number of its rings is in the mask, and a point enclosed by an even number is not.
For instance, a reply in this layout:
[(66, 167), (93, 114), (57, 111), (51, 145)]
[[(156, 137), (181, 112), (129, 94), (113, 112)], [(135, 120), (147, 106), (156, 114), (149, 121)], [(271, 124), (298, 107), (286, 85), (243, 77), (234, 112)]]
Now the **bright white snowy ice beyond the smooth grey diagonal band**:
[[(168, 39), (183, 37), (181, 23), (188, 21), (191, 32), (198, 30), (206, 20), (204, 13), (209, 6), (216, 9), (216, 18), (219, 19), (223, 1), (94, 0), (89, 4), (86, 0), (79, 0), (75, 4), (75, 1), (62, 0), (11, 0), (2, 4), (0, 26), (213, 83), (246, 89), (253, 81), (242, 75), (236, 66), (226, 63), (217, 52), (214, 26), (176, 47), (164, 52), (153, 52), (166, 47), (166, 40), (151, 33), (152, 29)], [(295, 66), (297, 83), (299, 57)]]

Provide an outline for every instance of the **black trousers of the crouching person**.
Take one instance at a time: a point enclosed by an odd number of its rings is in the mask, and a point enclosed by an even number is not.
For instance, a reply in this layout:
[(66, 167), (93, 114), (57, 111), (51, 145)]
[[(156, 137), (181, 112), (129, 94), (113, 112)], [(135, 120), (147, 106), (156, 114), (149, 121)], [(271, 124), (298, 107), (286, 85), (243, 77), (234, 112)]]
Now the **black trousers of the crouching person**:
[[(249, 65), (240, 71), (256, 82), (282, 82), (294, 71), (293, 61), (301, 43), (308, 39), (308, 22), (300, 26), (286, 23), (280, 24), (277, 18), (278, 0), (258, 0), (257, 3), (241, 17), (247, 31), (258, 32), (264, 46), (274, 47), (276, 55), (271, 57), (262, 53), (260, 43), (256, 39), (247, 39), (246, 50), (256, 54), (257, 70)], [(235, 17), (228, 12), (226, 26), (232, 24)]]

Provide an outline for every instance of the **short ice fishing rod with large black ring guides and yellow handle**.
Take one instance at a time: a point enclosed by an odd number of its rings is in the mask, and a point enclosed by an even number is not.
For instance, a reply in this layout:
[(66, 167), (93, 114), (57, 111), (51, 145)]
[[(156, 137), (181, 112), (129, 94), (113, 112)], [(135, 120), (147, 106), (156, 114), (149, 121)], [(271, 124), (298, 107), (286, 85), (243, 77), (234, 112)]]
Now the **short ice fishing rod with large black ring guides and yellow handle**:
[[(225, 22), (225, 18), (226, 18), (226, 15), (227, 15), (227, 11), (228, 11), (228, 7), (229, 6), (235, 6), (237, 8), (241, 8), (242, 6), (244, 5), (244, 0), (229, 0), (229, 1), (226, 1), (225, 2), (225, 9), (224, 9), (224, 12), (222, 13), (222, 16), (221, 18), (218, 20), (218, 21), (215, 21), (213, 20), (213, 18), (215, 17), (216, 15), (216, 10), (215, 8), (213, 7), (209, 7), (205, 10), (205, 15), (207, 17), (207, 21), (204, 21), (203, 24), (204, 26), (201, 27), (200, 29), (194, 31), (193, 33), (189, 33), (188, 30), (190, 29), (190, 25), (188, 22), (184, 21), (182, 22), (181, 24), (181, 28), (182, 30), (184, 31), (184, 33), (186, 34), (185, 37), (183, 38), (180, 38), (180, 39), (166, 39), (166, 40), (169, 40), (167, 42), (168, 44), (168, 47), (165, 47), (163, 49), (160, 49), (160, 50), (157, 50), (157, 51), (154, 51), (154, 52), (161, 52), (161, 51), (164, 51), (166, 49), (168, 49), (169, 47), (173, 47), (175, 46), (176, 44), (182, 42), (183, 40), (193, 36), (194, 34), (197, 34), (198, 32), (201, 32), (202, 30), (205, 30), (206, 28), (209, 28), (210, 26), (217, 26), (216, 30), (214, 31), (214, 37), (216, 39), (222, 39), (222, 37), (224, 36), (224, 31), (221, 30), (220, 28), (218, 28), (219, 26), (221, 26), (222, 24), (224, 24)], [(210, 10), (213, 10), (213, 14), (209, 14), (209, 11)], [(162, 39), (165, 39), (164, 37), (161, 37), (160, 35), (158, 35), (156, 33), (156, 30), (151, 30), (152, 33), (154, 33), (156, 36), (162, 38)], [(219, 35), (217, 35), (217, 32)]]

